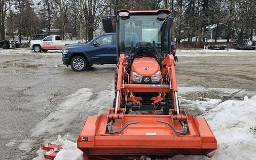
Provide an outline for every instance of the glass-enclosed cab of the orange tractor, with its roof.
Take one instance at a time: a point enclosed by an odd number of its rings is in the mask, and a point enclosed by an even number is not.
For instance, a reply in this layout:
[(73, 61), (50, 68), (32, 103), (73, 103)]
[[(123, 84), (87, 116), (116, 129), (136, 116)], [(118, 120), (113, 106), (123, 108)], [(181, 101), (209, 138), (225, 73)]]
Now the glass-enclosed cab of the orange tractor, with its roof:
[[(117, 14), (118, 54), (127, 55), (129, 63), (142, 57), (161, 62), (170, 53), (170, 23), (173, 18), (168, 10), (145, 14), (119, 10)], [(130, 38), (127, 33), (133, 33), (136, 38)]]

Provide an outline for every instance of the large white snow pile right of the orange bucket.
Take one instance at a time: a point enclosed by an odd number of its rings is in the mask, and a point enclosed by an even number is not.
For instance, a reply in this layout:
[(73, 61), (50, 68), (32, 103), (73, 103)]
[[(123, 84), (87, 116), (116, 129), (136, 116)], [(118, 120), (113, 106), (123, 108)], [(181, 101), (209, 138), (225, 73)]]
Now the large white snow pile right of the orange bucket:
[(218, 142), (212, 159), (256, 159), (256, 96), (227, 100), (205, 117)]

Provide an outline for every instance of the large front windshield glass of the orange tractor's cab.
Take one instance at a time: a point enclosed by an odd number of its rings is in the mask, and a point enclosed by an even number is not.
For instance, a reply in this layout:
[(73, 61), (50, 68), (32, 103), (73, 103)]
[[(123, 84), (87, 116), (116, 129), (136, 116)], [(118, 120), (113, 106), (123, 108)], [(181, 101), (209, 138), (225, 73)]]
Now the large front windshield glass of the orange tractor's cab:
[(158, 15), (130, 15), (119, 18), (119, 53), (128, 56), (164, 58), (168, 53), (166, 20)]

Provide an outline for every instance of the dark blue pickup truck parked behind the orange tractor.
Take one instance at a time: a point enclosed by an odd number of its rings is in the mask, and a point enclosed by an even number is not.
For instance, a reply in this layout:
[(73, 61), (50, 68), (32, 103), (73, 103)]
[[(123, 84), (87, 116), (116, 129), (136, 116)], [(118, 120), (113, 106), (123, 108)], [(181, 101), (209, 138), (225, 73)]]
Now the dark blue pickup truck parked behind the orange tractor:
[[(127, 33), (134, 44), (138, 43), (135, 33)], [(128, 36), (127, 36), (128, 37)], [(127, 39), (129, 41), (129, 39)], [(171, 43), (173, 56), (176, 52), (175, 43)], [(116, 64), (116, 33), (104, 33), (87, 44), (67, 45), (62, 49), (62, 62), (75, 71), (84, 71), (93, 64)]]

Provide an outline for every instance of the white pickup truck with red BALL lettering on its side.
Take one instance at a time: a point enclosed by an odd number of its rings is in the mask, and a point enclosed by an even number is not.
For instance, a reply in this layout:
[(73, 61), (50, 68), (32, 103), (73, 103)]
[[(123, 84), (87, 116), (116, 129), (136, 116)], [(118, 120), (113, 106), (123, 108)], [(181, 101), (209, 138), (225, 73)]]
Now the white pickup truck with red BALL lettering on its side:
[(69, 44), (83, 43), (83, 41), (62, 41), (59, 35), (49, 35), (42, 40), (30, 41), (29, 48), (34, 52), (47, 52), (48, 50), (61, 50)]

